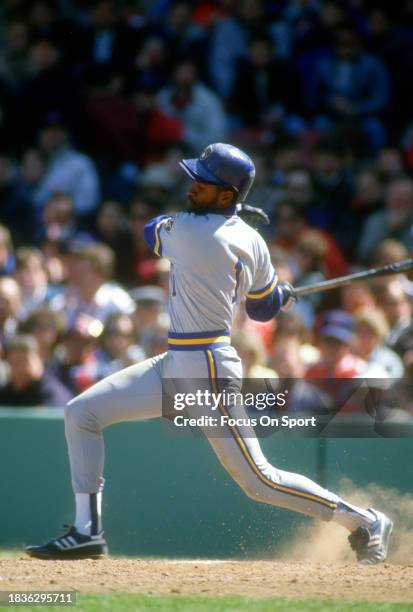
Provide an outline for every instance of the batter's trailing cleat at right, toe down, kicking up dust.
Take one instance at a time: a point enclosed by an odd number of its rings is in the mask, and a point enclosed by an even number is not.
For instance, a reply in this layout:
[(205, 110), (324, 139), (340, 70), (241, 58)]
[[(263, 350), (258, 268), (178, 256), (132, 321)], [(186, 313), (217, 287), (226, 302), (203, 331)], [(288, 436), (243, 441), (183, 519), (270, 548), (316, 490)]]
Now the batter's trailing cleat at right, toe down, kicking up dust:
[(356, 551), (361, 565), (376, 565), (386, 560), (393, 521), (377, 510), (369, 508), (376, 517), (368, 527), (359, 527), (348, 536), (351, 548)]

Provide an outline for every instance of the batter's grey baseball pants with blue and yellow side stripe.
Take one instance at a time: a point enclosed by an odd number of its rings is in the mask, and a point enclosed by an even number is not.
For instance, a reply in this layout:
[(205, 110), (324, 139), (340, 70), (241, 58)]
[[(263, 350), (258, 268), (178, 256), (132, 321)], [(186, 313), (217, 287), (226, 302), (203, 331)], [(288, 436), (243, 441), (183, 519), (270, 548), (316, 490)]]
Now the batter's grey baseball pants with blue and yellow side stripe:
[[(161, 417), (162, 379), (183, 378), (205, 378), (214, 388), (218, 378), (241, 380), (241, 361), (231, 346), (170, 350), (107, 377), (69, 402), (65, 430), (75, 493), (103, 488), (103, 429), (122, 421)], [(208, 437), (208, 429), (204, 432)], [(252, 499), (324, 521), (333, 518), (339, 498), (305, 476), (271, 465), (252, 428), (224, 425), (220, 435), (209, 436), (208, 441)]]

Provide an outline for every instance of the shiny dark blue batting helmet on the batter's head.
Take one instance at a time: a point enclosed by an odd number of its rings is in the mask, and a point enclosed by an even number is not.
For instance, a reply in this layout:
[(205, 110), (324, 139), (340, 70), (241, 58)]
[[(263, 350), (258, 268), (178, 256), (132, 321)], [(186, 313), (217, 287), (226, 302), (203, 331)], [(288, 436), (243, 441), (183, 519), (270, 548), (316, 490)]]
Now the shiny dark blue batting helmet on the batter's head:
[(222, 142), (208, 145), (198, 159), (183, 159), (181, 168), (195, 181), (233, 187), (243, 202), (255, 178), (255, 166), (241, 149)]

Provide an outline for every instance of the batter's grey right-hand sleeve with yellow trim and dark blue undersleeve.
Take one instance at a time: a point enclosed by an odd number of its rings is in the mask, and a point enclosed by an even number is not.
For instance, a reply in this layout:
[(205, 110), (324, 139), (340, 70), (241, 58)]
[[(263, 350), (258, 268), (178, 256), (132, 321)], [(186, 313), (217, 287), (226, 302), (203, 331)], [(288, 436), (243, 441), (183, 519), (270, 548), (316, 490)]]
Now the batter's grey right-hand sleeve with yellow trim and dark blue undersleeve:
[(282, 285), (272, 266), (268, 247), (262, 240), (252, 287), (246, 295), (247, 314), (254, 321), (269, 321), (278, 314), (282, 305)]

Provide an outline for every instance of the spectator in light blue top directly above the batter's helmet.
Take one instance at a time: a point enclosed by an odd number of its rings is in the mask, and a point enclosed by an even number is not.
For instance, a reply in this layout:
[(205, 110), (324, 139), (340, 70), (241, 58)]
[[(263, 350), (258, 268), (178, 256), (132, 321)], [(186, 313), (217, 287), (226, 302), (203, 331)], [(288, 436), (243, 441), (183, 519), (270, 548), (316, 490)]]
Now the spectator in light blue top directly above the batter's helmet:
[(221, 101), (198, 80), (191, 61), (176, 66), (172, 84), (161, 89), (158, 103), (166, 115), (182, 122), (183, 141), (192, 151), (225, 141), (227, 121)]

